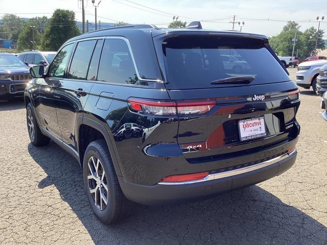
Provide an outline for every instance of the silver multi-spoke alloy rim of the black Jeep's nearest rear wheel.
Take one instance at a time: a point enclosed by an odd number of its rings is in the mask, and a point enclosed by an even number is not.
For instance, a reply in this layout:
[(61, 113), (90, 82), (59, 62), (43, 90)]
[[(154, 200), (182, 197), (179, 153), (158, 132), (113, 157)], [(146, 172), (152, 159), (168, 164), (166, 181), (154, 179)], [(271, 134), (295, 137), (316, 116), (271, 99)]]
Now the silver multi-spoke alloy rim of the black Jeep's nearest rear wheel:
[(88, 160), (88, 188), (98, 209), (104, 210), (108, 203), (108, 185), (104, 168), (96, 156)]

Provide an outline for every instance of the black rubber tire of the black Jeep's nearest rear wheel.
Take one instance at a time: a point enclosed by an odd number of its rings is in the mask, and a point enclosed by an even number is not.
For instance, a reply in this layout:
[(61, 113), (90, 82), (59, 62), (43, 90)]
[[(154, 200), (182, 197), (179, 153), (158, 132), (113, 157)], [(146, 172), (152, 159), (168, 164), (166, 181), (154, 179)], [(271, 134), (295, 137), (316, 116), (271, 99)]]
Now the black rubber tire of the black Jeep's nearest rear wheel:
[[(104, 182), (107, 187), (107, 191), (103, 192), (104, 195), (107, 193), (107, 204), (105, 207), (101, 210), (95, 203), (95, 197), (99, 194), (99, 197), (101, 199), (101, 190), (105, 190), (104, 188), (98, 187), (99, 192), (96, 190), (96, 195), (90, 193), (90, 189), (92, 189), (92, 181), (94, 183), (97, 183), (94, 179), (88, 179), (88, 176), (91, 175), (90, 168), (88, 166), (89, 161), (92, 159), (99, 159), (101, 163), (101, 167), (104, 170)], [(100, 164), (98, 164), (100, 165)], [(98, 173), (94, 173), (98, 174)], [(102, 172), (103, 175), (103, 172)], [(100, 176), (99, 172), (99, 179), (102, 179), (102, 175)], [(91, 205), (92, 210), (96, 214), (96, 216), (105, 224), (113, 224), (118, 223), (127, 216), (129, 216), (133, 210), (134, 203), (129, 201), (118, 182), (118, 178), (116, 176), (111, 156), (108, 150), (107, 143), (104, 139), (95, 140), (86, 148), (84, 160), (83, 160), (83, 180), (84, 180), (84, 188), (86, 191), (87, 199)], [(98, 182), (99, 183), (99, 182)], [(99, 184), (98, 184), (99, 185)], [(97, 186), (98, 186), (97, 185)], [(94, 187), (93, 189), (97, 188)], [(102, 187), (102, 185), (101, 185)], [(102, 200), (99, 200), (102, 202)], [(103, 202), (104, 203), (104, 202)], [(102, 203), (102, 204), (103, 204)], [(101, 204), (101, 205), (102, 205)], [(103, 207), (103, 206), (101, 206)]]

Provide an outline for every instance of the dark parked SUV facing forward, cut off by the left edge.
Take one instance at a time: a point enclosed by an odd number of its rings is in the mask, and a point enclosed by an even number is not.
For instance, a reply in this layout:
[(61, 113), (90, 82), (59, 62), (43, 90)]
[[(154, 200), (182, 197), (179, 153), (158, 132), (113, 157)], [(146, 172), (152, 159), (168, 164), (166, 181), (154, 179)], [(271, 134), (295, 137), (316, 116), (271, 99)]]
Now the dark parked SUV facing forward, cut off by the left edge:
[(29, 67), (13, 54), (0, 53), (0, 102), (23, 97), (31, 80)]

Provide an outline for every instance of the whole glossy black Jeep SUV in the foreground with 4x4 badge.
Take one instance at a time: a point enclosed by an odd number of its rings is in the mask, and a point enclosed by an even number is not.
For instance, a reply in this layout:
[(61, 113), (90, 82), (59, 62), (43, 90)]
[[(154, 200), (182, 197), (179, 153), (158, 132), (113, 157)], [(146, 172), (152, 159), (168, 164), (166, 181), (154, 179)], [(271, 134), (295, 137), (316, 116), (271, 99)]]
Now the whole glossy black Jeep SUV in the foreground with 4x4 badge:
[(30, 139), (79, 161), (104, 223), (133, 202), (211, 198), (295, 162), (299, 90), (265, 36), (111, 28), (68, 40), (46, 74), (30, 72)]

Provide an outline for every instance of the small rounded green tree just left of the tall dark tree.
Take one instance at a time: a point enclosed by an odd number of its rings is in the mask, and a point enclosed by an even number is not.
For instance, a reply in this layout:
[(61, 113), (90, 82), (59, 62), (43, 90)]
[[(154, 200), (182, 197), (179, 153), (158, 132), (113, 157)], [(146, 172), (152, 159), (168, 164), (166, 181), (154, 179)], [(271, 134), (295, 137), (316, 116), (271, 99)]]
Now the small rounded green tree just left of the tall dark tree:
[[(30, 26), (35, 26), (35, 22), (29, 21), (24, 30), (18, 36), (18, 51), (33, 50), (33, 28)], [(34, 28), (34, 41), (36, 49), (39, 49), (41, 44), (41, 34), (37, 28)]]

